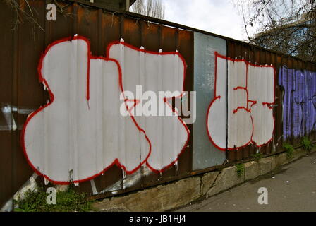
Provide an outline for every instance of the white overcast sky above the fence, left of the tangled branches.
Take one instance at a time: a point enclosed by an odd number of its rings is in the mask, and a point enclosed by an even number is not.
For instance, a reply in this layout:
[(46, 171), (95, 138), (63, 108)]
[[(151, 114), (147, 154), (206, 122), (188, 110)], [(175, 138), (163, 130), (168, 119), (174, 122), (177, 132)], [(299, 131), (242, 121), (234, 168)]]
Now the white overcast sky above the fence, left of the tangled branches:
[(232, 0), (162, 0), (164, 20), (244, 40), (243, 20)]

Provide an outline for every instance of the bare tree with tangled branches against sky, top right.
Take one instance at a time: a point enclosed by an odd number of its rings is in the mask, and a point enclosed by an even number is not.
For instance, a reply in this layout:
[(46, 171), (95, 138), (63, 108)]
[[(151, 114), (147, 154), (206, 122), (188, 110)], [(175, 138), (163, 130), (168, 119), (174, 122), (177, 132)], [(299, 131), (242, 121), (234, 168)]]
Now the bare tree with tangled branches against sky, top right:
[(247, 41), (316, 62), (315, 0), (233, 0)]

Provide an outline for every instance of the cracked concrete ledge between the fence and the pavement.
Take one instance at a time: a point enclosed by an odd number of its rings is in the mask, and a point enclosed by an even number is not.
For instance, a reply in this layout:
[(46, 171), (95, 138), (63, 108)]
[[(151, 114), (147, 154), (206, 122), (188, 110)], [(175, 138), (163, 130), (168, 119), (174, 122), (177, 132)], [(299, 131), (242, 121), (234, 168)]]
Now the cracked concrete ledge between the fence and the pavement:
[[(312, 152), (315, 151), (312, 150)], [(250, 179), (272, 172), (281, 165), (286, 165), (307, 154), (306, 150), (296, 149), (291, 159), (287, 157), (286, 153), (281, 153), (264, 157), (258, 161), (246, 162), (244, 172), (240, 177), (237, 176), (236, 166), (231, 166), (131, 194), (104, 198), (102, 201), (93, 203), (92, 206), (95, 210), (107, 212), (172, 210), (202, 198), (219, 194), (233, 186), (238, 186)]]

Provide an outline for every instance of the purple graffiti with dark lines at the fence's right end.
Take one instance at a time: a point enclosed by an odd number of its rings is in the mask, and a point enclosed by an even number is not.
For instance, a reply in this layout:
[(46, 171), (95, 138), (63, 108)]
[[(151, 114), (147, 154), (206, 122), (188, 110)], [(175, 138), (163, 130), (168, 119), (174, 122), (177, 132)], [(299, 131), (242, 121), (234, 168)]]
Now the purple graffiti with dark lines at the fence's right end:
[(316, 129), (316, 72), (279, 70), (279, 85), (284, 88), (284, 139), (305, 136)]

